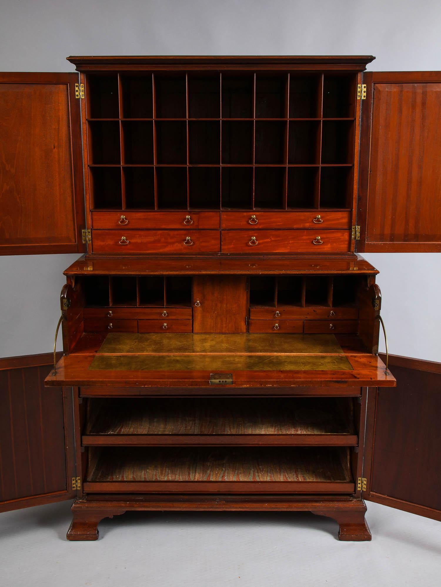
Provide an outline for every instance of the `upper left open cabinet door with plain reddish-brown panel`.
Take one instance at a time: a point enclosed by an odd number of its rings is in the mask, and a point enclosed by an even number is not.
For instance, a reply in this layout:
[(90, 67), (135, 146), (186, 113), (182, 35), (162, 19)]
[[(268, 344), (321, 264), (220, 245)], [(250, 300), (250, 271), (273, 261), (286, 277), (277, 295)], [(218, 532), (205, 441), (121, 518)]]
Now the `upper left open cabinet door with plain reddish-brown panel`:
[(78, 86), (77, 73), (0, 73), (0, 254), (85, 251)]

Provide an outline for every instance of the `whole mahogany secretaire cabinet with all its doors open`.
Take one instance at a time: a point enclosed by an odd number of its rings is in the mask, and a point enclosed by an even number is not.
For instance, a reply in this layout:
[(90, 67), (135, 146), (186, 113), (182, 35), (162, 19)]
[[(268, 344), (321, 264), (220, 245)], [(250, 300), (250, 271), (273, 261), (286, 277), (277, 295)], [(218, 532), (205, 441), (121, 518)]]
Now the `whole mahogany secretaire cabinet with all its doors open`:
[(441, 251), (441, 73), (372, 59), (0, 74), (0, 249), (83, 254), (46, 387), (48, 356), (0, 360), (0, 511), (75, 498), (71, 540), (126, 510), (441, 519), (441, 369), (378, 356), (359, 255)]

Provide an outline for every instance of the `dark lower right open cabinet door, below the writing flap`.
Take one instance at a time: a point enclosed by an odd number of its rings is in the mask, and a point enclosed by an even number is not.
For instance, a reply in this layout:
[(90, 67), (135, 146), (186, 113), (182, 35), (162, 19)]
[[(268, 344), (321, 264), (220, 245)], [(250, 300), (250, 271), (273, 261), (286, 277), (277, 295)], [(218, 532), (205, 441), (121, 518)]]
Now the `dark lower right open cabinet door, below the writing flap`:
[(389, 357), (396, 387), (368, 390), (365, 500), (441, 521), (441, 363)]

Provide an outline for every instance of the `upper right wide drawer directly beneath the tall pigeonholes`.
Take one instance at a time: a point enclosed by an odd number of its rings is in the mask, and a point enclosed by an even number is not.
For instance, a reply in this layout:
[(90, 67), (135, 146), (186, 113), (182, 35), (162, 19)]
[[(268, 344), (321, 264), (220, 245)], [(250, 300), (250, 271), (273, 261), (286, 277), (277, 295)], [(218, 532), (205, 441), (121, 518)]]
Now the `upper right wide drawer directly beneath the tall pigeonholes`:
[(351, 212), (222, 212), (222, 228), (350, 228)]

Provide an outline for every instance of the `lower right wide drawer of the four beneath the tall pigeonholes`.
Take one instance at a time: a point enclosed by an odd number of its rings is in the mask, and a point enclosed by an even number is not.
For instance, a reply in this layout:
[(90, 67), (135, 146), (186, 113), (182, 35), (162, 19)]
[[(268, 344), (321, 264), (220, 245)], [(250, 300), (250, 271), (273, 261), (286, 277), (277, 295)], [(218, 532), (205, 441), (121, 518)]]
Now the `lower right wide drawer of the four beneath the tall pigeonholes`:
[(344, 252), (349, 251), (350, 242), (348, 230), (222, 231), (222, 252), (224, 253)]

